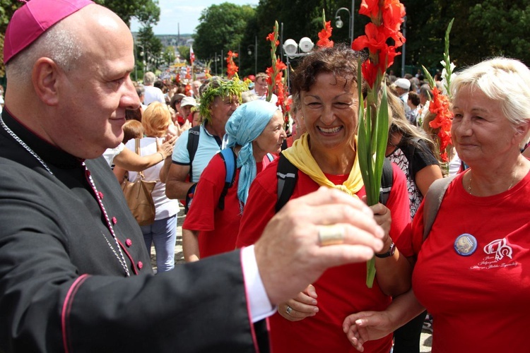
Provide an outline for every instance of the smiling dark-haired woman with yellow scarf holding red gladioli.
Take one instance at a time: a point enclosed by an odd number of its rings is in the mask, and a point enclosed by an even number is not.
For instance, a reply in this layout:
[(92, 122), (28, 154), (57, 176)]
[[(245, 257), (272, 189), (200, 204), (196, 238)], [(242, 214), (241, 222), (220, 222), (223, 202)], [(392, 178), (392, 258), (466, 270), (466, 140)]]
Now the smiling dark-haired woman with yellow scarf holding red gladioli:
[[(305, 56), (295, 71), (293, 95), (300, 101), (307, 132), (282, 152), (298, 168), (291, 198), (319, 186), (341, 189), (352, 197), (365, 196), (356, 138), (358, 84), (362, 84), (357, 82), (358, 59), (345, 46), (324, 48)], [(277, 169), (275, 160), (254, 180), (237, 246), (254, 244), (275, 214)], [(386, 205), (372, 206), (375, 220), (386, 231), (384, 250), (375, 259), (373, 287), (366, 285), (365, 263), (327, 270), (317, 282), (308, 283), (305, 292), (279, 305), (278, 313), (270, 318), (273, 352), (350, 352), (353, 347), (341, 328), (343, 318), (360, 308), (382, 310), (390, 304), (390, 296), (408, 290), (411, 267), (404, 257), (411, 255), (408, 195), (404, 174), (396, 165), (392, 171), (394, 181)], [(391, 335), (369, 345), (372, 352), (389, 352)]]

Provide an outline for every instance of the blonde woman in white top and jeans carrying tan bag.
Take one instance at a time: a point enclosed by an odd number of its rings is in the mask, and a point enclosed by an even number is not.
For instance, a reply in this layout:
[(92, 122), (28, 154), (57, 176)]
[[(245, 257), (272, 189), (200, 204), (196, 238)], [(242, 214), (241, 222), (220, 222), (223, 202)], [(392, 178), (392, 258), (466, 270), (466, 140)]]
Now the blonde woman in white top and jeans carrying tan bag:
[[(164, 138), (167, 127), (171, 124), (171, 113), (166, 104), (153, 102), (149, 104), (142, 114), (143, 131), (146, 137), (141, 138), (140, 155), (151, 155), (157, 152), (157, 138)], [(126, 148), (135, 151), (135, 139), (126, 143)], [(141, 226), (143, 239), (147, 250), (151, 251), (151, 244), (155, 245), (156, 265), (158, 272), (171, 270), (175, 267), (175, 240), (177, 237), (177, 213), (179, 203), (165, 196), (166, 174), (171, 166), (171, 158), (165, 158), (160, 153), (160, 162), (143, 171), (146, 180), (157, 180), (153, 189), (155, 202), (155, 222), (151, 225)], [(115, 167), (114, 169), (119, 168)], [(138, 173), (129, 172), (129, 180), (134, 181)]]

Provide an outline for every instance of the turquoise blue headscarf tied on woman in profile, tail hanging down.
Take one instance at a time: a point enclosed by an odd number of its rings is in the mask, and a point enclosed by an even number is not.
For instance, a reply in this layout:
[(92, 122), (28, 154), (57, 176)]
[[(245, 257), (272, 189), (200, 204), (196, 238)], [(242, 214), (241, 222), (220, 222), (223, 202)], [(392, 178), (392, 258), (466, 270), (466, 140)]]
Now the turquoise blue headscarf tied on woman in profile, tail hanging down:
[(240, 105), (232, 113), (226, 123), (228, 144), (226, 148), (235, 145), (242, 146), (237, 155), (237, 168), (241, 167), (240, 179), (237, 184), (237, 198), (242, 205), (247, 202), (250, 184), (256, 178), (256, 161), (252, 150), (252, 141), (264, 131), (278, 107), (264, 100), (253, 100)]

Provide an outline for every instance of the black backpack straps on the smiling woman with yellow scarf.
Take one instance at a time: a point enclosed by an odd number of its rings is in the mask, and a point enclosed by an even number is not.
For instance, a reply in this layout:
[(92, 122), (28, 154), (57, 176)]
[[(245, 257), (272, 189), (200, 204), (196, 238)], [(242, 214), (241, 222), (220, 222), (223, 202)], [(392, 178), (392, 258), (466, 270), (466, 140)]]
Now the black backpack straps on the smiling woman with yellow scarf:
[[(276, 200), (276, 213), (289, 201), (290, 196), (295, 190), (296, 181), (298, 179), (298, 168), (295, 167), (283, 154), (278, 160), (278, 198)], [(385, 158), (383, 163), (383, 172), (381, 175), (381, 189), (379, 189), (379, 202), (383, 205), (387, 204), (390, 191), (392, 189), (392, 181), (394, 175), (391, 162)]]

